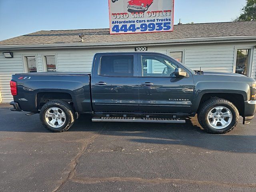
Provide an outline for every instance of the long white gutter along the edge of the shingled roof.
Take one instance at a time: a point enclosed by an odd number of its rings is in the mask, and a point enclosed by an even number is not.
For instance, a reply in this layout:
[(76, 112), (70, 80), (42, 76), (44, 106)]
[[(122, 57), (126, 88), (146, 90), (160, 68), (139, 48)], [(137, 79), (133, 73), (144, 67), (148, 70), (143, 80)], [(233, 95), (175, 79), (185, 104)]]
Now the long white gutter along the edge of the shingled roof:
[(140, 46), (163, 46), (163, 45), (188, 45), (188, 44), (215, 44), (215, 43), (237, 43), (255, 42), (256, 36), (228, 36), (228, 37), (209, 37), (209, 38), (187, 38), (169, 40), (150, 40), (150, 41), (130, 41), (130, 42), (98, 42), (98, 43), (63, 43), (63, 44), (30, 44), (30, 45), (0, 45), (0, 50), (26, 50), (26, 49), (65, 49), (65, 48), (104, 48), (104, 47), (134, 47)]

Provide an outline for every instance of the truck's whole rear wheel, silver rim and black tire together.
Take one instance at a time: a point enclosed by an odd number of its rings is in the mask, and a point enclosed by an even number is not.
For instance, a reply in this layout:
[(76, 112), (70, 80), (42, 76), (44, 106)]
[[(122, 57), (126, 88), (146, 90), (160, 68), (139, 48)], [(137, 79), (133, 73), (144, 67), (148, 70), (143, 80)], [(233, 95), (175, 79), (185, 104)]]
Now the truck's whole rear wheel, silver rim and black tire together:
[(47, 130), (63, 132), (73, 125), (75, 111), (68, 102), (52, 100), (42, 106), (40, 120)]

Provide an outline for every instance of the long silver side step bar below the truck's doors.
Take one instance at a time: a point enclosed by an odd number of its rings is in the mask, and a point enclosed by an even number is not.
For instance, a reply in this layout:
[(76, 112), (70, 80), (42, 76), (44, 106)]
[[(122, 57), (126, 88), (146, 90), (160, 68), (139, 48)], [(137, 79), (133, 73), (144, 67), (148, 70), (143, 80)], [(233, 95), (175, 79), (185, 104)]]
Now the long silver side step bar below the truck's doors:
[(153, 122), (153, 123), (186, 123), (182, 118), (135, 118), (135, 117), (95, 117), (92, 121), (112, 121), (112, 122)]

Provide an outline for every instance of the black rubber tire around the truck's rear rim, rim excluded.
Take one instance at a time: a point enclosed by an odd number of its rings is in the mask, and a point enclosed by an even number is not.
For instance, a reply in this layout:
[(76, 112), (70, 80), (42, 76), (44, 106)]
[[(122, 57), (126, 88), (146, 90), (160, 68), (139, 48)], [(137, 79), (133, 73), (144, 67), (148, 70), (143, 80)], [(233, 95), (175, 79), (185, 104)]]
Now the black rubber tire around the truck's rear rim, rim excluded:
[[(52, 107), (60, 108), (66, 115), (65, 123), (58, 128), (54, 128), (54, 127), (50, 126), (46, 122), (46, 119), (45, 119), (46, 111)], [(49, 101), (46, 104), (44, 104), (44, 106), (42, 106), (42, 108), (40, 110), (40, 120), (41, 120), (43, 126), (51, 132), (63, 132), (63, 131), (68, 130), (73, 125), (75, 119), (76, 119), (75, 111), (72, 108), (72, 106), (68, 102), (65, 102), (62, 100)]]

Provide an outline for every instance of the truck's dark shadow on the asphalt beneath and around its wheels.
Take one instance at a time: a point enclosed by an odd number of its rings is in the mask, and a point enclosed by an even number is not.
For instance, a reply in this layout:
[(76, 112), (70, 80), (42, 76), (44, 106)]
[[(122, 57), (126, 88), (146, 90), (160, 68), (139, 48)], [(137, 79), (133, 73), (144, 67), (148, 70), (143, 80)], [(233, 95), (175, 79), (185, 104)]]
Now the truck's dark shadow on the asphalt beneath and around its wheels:
[[(0, 132), (38, 132), (49, 133), (41, 124), (39, 115), (30, 117), (25, 113), (9, 114), (0, 111)], [(6, 119), (6, 118), (9, 118)], [(256, 153), (255, 135), (209, 134), (197, 125), (196, 118), (186, 119), (186, 124), (164, 123), (125, 123), (125, 122), (92, 122), (90, 116), (81, 115), (68, 132), (100, 132), (104, 135), (120, 136), (130, 142), (143, 144), (184, 145), (237, 153)], [(254, 123), (255, 124), (255, 123)], [(241, 128), (242, 130), (242, 128)], [(241, 132), (241, 131), (240, 131)], [(60, 133), (65, 134), (66, 132)], [(78, 133), (79, 134), (79, 133)]]

